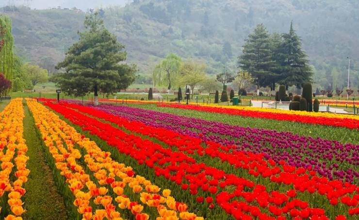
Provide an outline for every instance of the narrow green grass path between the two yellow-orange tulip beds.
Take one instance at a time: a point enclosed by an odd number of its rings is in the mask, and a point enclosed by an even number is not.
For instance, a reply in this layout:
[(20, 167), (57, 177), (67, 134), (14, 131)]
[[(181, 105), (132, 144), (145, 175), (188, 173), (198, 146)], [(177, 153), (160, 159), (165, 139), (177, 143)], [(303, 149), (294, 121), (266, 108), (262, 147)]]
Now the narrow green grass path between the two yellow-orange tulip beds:
[(66, 209), (62, 196), (58, 193), (52, 172), (46, 164), (41, 149), (41, 138), (36, 132), (33, 117), (24, 102), (24, 138), (28, 146), (27, 167), (30, 169), (29, 180), (24, 188), (25, 220), (66, 220)]

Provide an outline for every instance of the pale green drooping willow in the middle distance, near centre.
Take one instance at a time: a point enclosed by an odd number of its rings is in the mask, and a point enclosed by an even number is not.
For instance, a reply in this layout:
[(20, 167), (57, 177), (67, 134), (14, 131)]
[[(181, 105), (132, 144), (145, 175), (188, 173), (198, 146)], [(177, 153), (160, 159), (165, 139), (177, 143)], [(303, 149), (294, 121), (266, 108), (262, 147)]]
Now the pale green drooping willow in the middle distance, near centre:
[(179, 72), (182, 64), (182, 59), (177, 54), (169, 54), (163, 59), (153, 70), (153, 85), (176, 86), (176, 80), (179, 77)]

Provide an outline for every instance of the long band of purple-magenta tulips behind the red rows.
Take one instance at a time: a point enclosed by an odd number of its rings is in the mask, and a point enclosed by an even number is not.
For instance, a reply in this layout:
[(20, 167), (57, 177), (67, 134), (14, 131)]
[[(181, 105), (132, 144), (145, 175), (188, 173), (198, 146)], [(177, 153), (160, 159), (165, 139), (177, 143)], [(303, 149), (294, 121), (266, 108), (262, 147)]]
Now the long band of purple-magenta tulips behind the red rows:
[(203, 142), (212, 141), (223, 146), (236, 146), (238, 150), (264, 154), (266, 159), (277, 163), (284, 160), (298, 168), (310, 166), (330, 180), (343, 179), (354, 183), (359, 178), (359, 172), (355, 169), (359, 164), (359, 145), (298, 136), (292, 132), (234, 126), (125, 105), (101, 104), (91, 107), (130, 121), (140, 121), (152, 127), (196, 137)]

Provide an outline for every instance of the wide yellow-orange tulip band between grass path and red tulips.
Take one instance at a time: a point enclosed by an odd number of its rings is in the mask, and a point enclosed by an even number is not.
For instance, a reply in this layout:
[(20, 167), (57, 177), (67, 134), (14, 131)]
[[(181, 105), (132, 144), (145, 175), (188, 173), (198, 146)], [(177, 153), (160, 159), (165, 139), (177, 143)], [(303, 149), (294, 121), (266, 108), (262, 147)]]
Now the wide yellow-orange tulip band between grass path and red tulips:
[[(131, 167), (113, 161), (110, 152), (102, 151), (95, 142), (78, 133), (43, 105), (31, 101), (28, 101), (28, 105), (46, 146), (50, 148), (56, 160), (56, 167), (66, 177), (71, 191), (76, 196), (73, 204), (78, 207), (83, 219), (121, 220), (120, 212), (116, 211), (116, 206), (113, 205), (115, 201), (119, 210), (129, 209), (136, 220), (148, 220), (149, 216), (142, 212), (144, 206), (131, 201), (128, 195), (124, 194), (126, 189), (131, 189), (132, 195), (140, 193), (139, 200), (144, 205), (157, 208), (156, 212), (160, 215), (157, 220), (176, 220), (178, 217), (183, 220), (203, 219), (187, 212), (187, 205), (176, 202), (170, 196), (170, 190), (163, 190), (162, 196), (157, 194), (161, 190), (158, 186), (151, 184), (145, 177), (135, 176)], [(65, 140), (69, 152), (66, 151), (62, 140)], [(53, 141), (56, 145), (53, 145)], [(58, 153), (57, 149), (61, 153)], [(81, 159), (86, 164), (86, 171), (104, 187), (98, 187), (90, 180), (90, 176), (85, 174), (82, 166), (76, 163), (76, 160)], [(84, 186), (87, 187), (87, 191), (84, 190)], [(109, 190), (114, 193), (114, 197)], [(104, 209), (97, 209), (93, 213), (91, 200), (96, 207), (102, 205)]]

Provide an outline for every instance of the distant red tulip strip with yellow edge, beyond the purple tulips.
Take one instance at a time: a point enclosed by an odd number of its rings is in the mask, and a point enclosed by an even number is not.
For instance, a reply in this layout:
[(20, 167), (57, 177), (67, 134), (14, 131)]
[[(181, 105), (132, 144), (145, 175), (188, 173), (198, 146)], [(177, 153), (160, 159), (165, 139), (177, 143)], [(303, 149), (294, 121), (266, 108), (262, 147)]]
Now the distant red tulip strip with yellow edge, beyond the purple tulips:
[[(318, 124), (334, 127), (344, 127), (349, 129), (359, 129), (359, 117), (357, 116), (347, 116), (343, 117), (342, 115), (337, 114), (327, 114), (325, 116), (319, 115), (314, 116), (307, 112), (298, 111), (287, 111), (284, 110), (267, 110), (261, 108), (241, 108), (232, 107), (232, 106), (202, 106), (202, 105), (184, 105), (184, 104), (168, 104), (168, 103), (159, 103), (159, 107), (169, 107), (169, 108), (181, 108), (187, 110), (211, 112), (211, 113), (220, 113), (228, 114), (242, 117), (256, 117), (256, 118), (266, 118), (280, 121), (293, 121), (306, 124)], [(294, 113), (291, 113), (294, 112)]]

